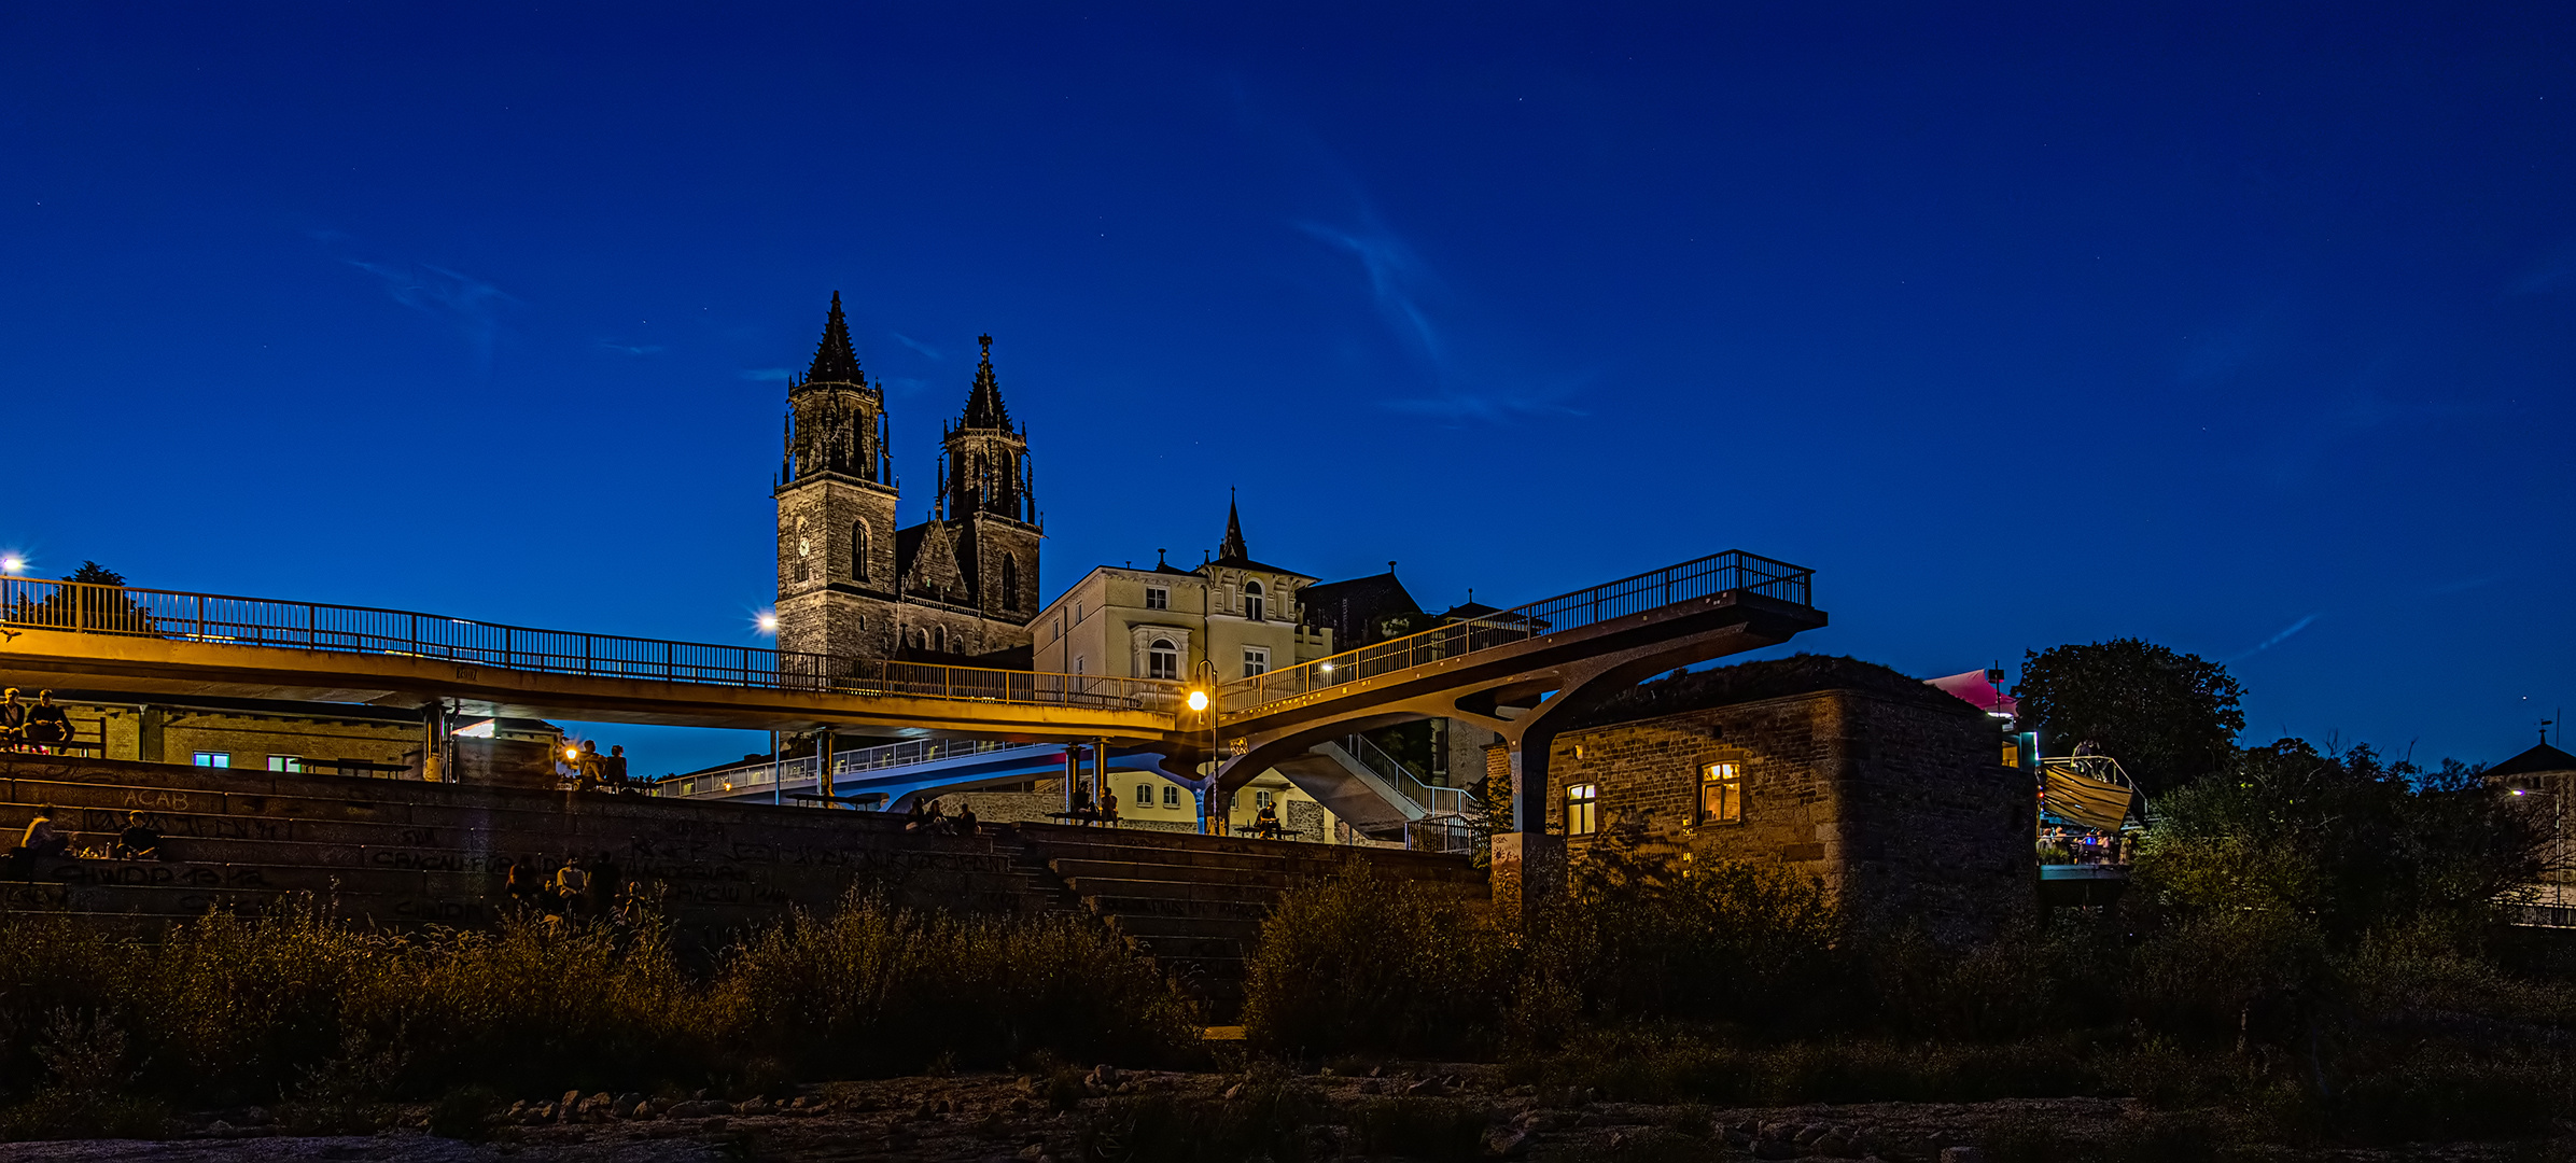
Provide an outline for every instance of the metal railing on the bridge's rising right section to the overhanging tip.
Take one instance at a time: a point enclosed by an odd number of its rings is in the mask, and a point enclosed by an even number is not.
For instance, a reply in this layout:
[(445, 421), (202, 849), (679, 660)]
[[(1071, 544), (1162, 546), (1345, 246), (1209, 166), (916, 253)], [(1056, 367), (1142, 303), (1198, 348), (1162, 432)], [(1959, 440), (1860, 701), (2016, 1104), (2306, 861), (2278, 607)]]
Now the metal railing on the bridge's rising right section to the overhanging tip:
[(1749, 592), (1808, 605), (1814, 576), (1814, 569), (1790, 566), (1788, 561), (1772, 561), (1744, 551), (1713, 553), (1680, 566), (1605, 582), (1592, 589), (1577, 589), (1571, 594), (1499, 610), (1484, 618), (1461, 618), (1422, 633), (1391, 638), (1376, 646), (1360, 646), (1355, 651), (1342, 651), (1288, 669), (1249, 674), (1226, 682), (1218, 690), (1218, 710), (1236, 715), (1270, 702), (1340, 687), (1345, 682), (1376, 679), (1381, 674), (1443, 659), (1461, 659), (1497, 646), (1522, 643), (1543, 633), (1574, 630), (1726, 592)]

